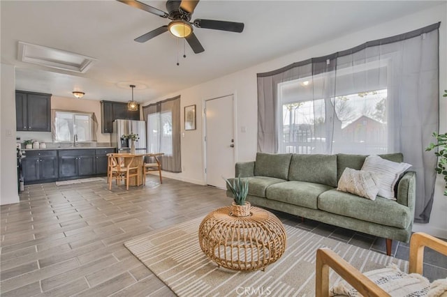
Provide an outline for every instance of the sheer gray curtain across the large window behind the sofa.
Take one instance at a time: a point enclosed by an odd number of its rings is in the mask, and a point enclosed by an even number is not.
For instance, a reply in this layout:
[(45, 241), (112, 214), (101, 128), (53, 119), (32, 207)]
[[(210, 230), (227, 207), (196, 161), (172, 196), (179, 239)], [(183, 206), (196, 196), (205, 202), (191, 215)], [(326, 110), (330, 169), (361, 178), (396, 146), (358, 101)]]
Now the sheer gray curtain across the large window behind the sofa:
[(258, 151), (402, 152), (428, 222), (439, 130), (439, 23), (258, 74)]

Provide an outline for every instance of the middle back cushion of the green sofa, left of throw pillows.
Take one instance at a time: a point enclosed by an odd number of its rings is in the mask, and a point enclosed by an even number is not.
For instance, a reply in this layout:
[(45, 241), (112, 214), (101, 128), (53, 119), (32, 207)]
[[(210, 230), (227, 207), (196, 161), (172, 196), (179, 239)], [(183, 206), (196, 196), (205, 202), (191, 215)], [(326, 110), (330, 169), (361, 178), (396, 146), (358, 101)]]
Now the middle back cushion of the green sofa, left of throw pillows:
[(337, 155), (294, 154), (288, 179), (337, 187)]

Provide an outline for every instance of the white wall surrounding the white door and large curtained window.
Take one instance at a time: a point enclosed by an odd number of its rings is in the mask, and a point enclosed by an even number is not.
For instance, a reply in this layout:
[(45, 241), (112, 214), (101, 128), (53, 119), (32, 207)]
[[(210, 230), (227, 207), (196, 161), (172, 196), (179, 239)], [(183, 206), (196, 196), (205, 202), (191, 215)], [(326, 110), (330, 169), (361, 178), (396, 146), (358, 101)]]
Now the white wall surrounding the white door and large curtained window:
[[(447, 40), (447, 3), (435, 6), (432, 9), (423, 10), (419, 13), (402, 17), (391, 22), (373, 26), (369, 29), (358, 31), (356, 33), (342, 36), (326, 43), (315, 45), (304, 50), (300, 50), (287, 56), (281, 56), (272, 61), (261, 63), (257, 66), (214, 79), (210, 82), (193, 86), (189, 89), (168, 94), (163, 98), (181, 95), (182, 110), (184, 106), (197, 105), (197, 130), (186, 131), (182, 138), (182, 165), (184, 170), (180, 174), (165, 174), (171, 178), (177, 178), (183, 181), (205, 184), (204, 153), (203, 153), (203, 100), (235, 94), (237, 114), (235, 116), (237, 135), (235, 135), (235, 147), (237, 161), (254, 160), (256, 156), (257, 142), (257, 89), (256, 73), (263, 73), (277, 68), (284, 67), (290, 63), (302, 61), (316, 56), (332, 54), (340, 50), (360, 45), (369, 40), (394, 36), (400, 33), (419, 29), (423, 26), (434, 24), (441, 21), (439, 30), (440, 36), (440, 82), (441, 90), (447, 88), (447, 63), (446, 63), (446, 40)], [(278, 45), (281, 46), (281, 45)], [(212, 66), (210, 66), (212, 67)], [(443, 83), (444, 82), (444, 83)], [(157, 101), (157, 100), (155, 100)], [(440, 131), (447, 130), (447, 100), (440, 103), (441, 123)], [(154, 102), (154, 101), (152, 101)], [(202, 111), (202, 112), (200, 112)], [(182, 112), (183, 113), (183, 112)], [(200, 116), (202, 114), (202, 116)], [(183, 123), (183, 114), (182, 114)], [(246, 128), (246, 132), (242, 132)], [(183, 127), (182, 127), (182, 132)], [(439, 176), (436, 193), (434, 197), (434, 206), (430, 224), (416, 224), (414, 227), (418, 231), (426, 231), (434, 236), (447, 238), (447, 197), (442, 195), (444, 184)]]

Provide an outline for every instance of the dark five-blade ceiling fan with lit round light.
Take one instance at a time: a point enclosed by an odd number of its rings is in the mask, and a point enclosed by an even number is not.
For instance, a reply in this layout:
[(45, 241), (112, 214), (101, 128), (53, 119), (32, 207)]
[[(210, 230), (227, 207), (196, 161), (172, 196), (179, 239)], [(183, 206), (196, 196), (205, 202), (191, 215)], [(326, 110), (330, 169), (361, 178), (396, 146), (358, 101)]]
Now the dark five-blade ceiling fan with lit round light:
[(145, 10), (148, 13), (153, 13), (154, 15), (158, 15), (159, 17), (171, 20), (168, 25), (161, 26), (157, 29), (143, 34), (138, 38), (135, 38), (135, 41), (138, 41), (138, 43), (145, 43), (147, 40), (159, 36), (161, 33), (169, 31), (178, 38), (185, 38), (189, 46), (191, 46), (193, 52), (198, 54), (205, 51), (205, 49), (198, 41), (196, 35), (193, 33), (193, 26), (195, 26), (196, 28), (214, 29), (237, 33), (241, 33), (244, 30), (244, 23), (238, 22), (203, 19), (196, 19), (193, 22), (190, 22), (191, 15), (193, 14), (194, 8), (196, 8), (199, 0), (168, 0), (166, 2), (166, 10), (168, 10), (168, 13), (165, 13), (163, 10), (159, 10), (136, 0), (117, 1), (125, 3), (129, 6), (133, 6), (135, 8), (139, 8), (141, 10)]

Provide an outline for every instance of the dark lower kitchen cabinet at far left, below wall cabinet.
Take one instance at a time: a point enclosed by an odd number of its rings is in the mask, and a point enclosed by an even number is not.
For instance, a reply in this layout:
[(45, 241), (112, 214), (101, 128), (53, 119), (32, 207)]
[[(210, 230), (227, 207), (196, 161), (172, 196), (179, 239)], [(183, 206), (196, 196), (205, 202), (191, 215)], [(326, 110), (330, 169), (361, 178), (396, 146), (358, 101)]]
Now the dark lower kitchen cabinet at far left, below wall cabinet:
[(59, 177), (57, 151), (27, 151), (22, 160), (24, 183), (56, 181)]

